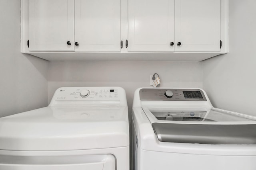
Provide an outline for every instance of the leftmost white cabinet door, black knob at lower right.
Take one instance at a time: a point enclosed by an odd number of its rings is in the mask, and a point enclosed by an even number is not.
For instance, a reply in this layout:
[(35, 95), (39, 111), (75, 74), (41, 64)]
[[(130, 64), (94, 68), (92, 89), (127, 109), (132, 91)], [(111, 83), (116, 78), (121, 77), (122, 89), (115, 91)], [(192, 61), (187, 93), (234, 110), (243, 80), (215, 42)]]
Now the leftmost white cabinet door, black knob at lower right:
[(29, 1), (29, 50), (74, 51), (74, 0)]

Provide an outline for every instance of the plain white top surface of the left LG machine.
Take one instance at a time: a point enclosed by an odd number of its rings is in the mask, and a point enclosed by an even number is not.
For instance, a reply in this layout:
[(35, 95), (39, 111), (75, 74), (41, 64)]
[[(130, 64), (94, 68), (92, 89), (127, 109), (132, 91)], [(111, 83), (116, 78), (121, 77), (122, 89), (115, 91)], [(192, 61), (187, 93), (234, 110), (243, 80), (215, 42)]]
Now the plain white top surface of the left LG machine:
[(128, 145), (126, 106), (51, 106), (0, 118), (2, 150), (80, 150)]

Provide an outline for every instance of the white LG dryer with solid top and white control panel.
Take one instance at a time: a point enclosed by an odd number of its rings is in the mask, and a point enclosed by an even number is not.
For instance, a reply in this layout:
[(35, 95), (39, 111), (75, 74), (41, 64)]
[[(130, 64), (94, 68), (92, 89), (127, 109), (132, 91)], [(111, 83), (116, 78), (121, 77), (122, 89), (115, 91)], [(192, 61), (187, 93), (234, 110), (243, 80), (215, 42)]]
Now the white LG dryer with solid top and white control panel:
[(123, 88), (63, 87), (48, 107), (0, 118), (0, 170), (71, 169), (129, 170)]

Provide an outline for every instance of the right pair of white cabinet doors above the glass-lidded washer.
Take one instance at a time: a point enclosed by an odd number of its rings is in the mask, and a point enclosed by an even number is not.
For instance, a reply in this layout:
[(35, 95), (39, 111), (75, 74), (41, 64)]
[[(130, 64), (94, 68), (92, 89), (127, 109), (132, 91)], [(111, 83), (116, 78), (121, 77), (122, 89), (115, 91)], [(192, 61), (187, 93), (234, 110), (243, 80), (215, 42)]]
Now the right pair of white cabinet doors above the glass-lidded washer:
[(220, 0), (129, 0), (128, 51), (220, 51)]

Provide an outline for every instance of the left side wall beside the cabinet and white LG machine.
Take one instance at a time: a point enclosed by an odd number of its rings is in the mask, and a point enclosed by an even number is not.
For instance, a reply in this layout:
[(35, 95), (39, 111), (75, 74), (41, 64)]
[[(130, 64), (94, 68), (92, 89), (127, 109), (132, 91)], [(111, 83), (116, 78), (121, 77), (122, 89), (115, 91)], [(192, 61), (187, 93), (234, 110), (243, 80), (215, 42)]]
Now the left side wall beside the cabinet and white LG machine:
[(47, 67), (20, 53), (20, 0), (0, 0), (0, 117), (47, 106)]

